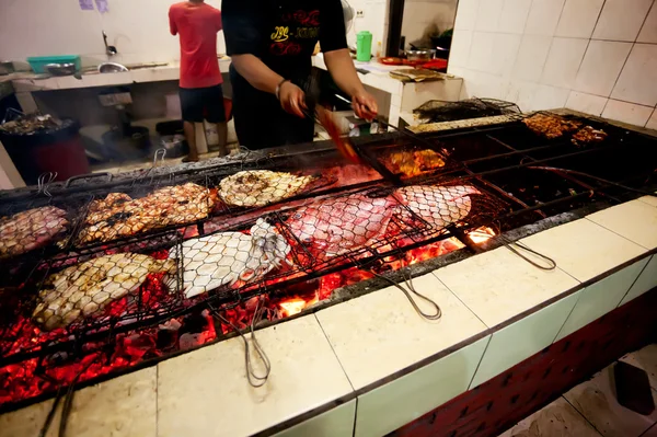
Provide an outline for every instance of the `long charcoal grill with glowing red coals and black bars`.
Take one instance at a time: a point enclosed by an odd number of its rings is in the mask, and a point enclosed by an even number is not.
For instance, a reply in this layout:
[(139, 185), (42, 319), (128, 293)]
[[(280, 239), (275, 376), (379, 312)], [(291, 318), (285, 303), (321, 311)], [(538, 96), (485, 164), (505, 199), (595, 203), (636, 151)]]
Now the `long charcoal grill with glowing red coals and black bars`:
[[(51, 197), (41, 191), (27, 195), (5, 193), (0, 196), (0, 210), (7, 215), (33, 205), (62, 205), (74, 225), (67, 235), (67, 244), (49, 245), (11, 263), (3, 263), (1, 267), (2, 280), (8, 280), (2, 286), (18, 291), (0, 294), (0, 314), (4, 315), (0, 326), (0, 379), (3, 380), (0, 409), (35, 402), (73, 380), (90, 383), (110, 378), (234, 335), (232, 331), (235, 327), (249, 327), (254, 314), (263, 311), (257, 306), (253, 308), (254, 297), (258, 297), (257, 304), (264, 302), (267, 306), (267, 302), (286, 296), (320, 292), (319, 289), (325, 290), (326, 287), (321, 288), (319, 284), (335, 275), (354, 276), (353, 280), (343, 281), (339, 286), (349, 286), (361, 278), (373, 278), (379, 287), (389, 285), (390, 280), (399, 283), (423, 268), (422, 263), (414, 264), (417, 260), (408, 257), (414, 251), (452, 242), (450, 244), (454, 248), (463, 248), (459, 250), (459, 256), (466, 256), (483, 250), (469, 237), (482, 227), (494, 229), (498, 235), (493, 239), (494, 242), (505, 243), (505, 235), (518, 228), (563, 212), (570, 212), (574, 218), (577, 214), (655, 189), (655, 138), (601, 122), (583, 119), (583, 123), (602, 128), (608, 138), (599, 143), (577, 147), (570, 142), (569, 136), (545, 139), (530, 131), (520, 120), (426, 134), (422, 136), (422, 143), (399, 133), (356, 138), (354, 142), (361, 159), (378, 169), (378, 173), (361, 179), (345, 179), (344, 174), (334, 173), (312, 189), (274, 205), (258, 208), (219, 205), (203, 220), (161, 227), (83, 248), (70, 243), (80, 231), (80, 219), (91, 200), (110, 193), (126, 193), (136, 198), (162, 186), (186, 182), (212, 189), (223, 177), (254, 169), (331, 175), (347, 163), (330, 143), (319, 142), (200, 171), (153, 172), (128, 181), (101, 175), (96, 182), (91, 180), (83, 185), (73, 182), (51, 188)], [(385, 166), (384, 158), (391, 152), (425, 150), (428, 147), (447, 157), (446, 165), (412, 176), (395, 174)], [(402, 205), (395, 194), (399, 185), (471, 185), (482, 195), (472, 196), (466, 217), (448, 226), (437, 226)], [(326, 257), (313, 253), (290, 228), (289, 218), (300, 208), (319, 199), (341, 199), (355, 194), (390, 196), (396, 210), (404, 211), (391, 218), (394, 232), (385, 232), (366, 245)], [(291, 266), (269, 272), (256, 280), (224, 285), (191, 299), (183, 295), (184, 278), (181, 276), (182, 268), (178, 268), (171, 295), (159, 300), (155, 307), (148, 304), (142, 295), (145, 287), (140, 287), (130, 297), (129, 308), (116, 314), (99, 314), (45, 334), (30, 322), (43, 280), (67, 264), (115, 252), (152, 254), (180, 246), (193, 238), (220, 232), (246, 234), (258, 218), (266, 218), (286, 238), (290, 245), (287, 256), (292, 262)], [(184, 263), (182, 256), (178, 263)], [(10, 267), (12, 275), (8, 275)], [(383, 283), (381, 277), (385, 278)], [(322, 302), (326, 297), (316, 297), (319, 307), (328, 303)], [(263, 311), (264, 323), (275, 322), (281, 317), (272, 308), (269, 306)], [(224, 323), (224, 319), (230, 323)]]

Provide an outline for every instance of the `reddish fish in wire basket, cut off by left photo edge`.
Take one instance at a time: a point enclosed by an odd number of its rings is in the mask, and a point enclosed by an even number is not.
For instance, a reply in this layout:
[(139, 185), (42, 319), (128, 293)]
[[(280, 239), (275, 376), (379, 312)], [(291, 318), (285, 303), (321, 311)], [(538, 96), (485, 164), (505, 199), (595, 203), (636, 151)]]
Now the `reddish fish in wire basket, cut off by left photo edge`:
[(0, 258), (43, 248), (60, 237), (68, 223), (66, 211), (54, 206), (0, 218)]

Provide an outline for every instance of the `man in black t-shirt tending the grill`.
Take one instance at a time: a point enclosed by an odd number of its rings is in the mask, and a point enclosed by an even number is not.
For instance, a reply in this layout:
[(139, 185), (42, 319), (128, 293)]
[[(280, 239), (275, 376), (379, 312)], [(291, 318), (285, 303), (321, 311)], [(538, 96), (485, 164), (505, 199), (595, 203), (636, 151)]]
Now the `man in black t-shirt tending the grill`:
[(318, 41), (356, 115), (377, 115), (377, 102), (365, 91), (347, 48), (341, 0), (223, 0), (221, 12), (240, 145), (264, 148), (312, 140), (314, 123), (304, 115), (306, 95), (299, 85), (310, 76)]

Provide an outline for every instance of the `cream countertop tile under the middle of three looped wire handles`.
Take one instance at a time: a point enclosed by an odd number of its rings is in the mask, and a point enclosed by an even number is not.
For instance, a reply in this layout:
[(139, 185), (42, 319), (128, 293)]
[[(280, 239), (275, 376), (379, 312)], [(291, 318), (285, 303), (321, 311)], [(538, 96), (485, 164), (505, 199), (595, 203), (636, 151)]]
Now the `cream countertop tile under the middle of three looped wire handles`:
[[(440, 320), (420, 318), (395, 287), (316, 313), (354, 389), (402, 370), (486, 329), (431, 274), (413, 279), (413, 285), (440, 306)], [(423, 311), (434, 311), (426, 302), (415, 299)]]

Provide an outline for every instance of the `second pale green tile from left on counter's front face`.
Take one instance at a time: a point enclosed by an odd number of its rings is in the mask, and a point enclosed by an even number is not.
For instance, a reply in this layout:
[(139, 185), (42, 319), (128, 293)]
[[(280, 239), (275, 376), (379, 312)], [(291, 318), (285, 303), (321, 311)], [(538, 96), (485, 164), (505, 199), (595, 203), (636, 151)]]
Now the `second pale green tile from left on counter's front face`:
[(358, 396), (355, 437), (385, 435), (464, 393), (488, 340), (481, 338)]

